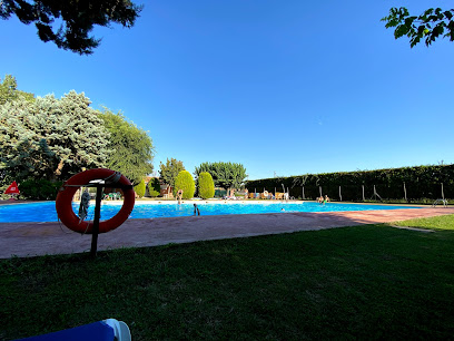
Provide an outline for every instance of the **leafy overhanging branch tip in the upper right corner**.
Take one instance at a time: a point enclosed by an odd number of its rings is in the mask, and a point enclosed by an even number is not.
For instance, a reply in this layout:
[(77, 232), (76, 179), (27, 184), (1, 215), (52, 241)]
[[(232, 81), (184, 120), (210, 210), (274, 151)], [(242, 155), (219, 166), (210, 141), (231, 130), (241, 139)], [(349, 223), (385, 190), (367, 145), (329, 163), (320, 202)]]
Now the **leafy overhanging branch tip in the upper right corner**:
[(442, 10), (430, 8), (420, 16), (411, 16), (404, 7), (392, 8), (389, 16), (384, 17), (386, 28), (395, 28), (394, 37), (408, 37), (409, 46), (413, 48), (421, 39), (430, 46), (440, 37), (454, 41), (454, 9)]

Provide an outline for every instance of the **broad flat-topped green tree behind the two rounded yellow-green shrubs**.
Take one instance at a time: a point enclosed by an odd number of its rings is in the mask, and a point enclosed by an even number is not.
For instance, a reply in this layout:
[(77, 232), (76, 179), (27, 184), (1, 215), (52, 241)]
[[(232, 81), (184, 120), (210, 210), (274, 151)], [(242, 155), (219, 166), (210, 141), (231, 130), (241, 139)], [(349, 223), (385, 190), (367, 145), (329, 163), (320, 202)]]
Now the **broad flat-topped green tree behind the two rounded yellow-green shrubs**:
[(247, 177), (246, 168), (235, 163), (203, 163), (196, 167), (196, 175), (207, 172), (211, 175), (217, 187), (225, 189), (240, 188)]

